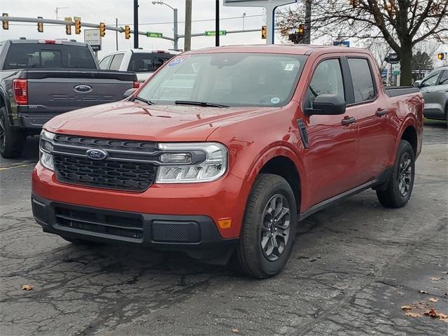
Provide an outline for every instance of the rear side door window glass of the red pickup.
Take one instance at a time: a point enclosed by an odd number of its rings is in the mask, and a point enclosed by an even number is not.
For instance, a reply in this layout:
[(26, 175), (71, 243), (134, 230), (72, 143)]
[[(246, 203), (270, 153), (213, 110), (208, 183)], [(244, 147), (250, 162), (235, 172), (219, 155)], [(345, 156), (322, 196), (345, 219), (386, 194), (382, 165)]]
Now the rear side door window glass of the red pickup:
[(351, 80), (353, 81), (355, 103), (374, 99), (375, 88), (369, 61), (365, 58), (349, 58), (347, 60), (349, 62)]

